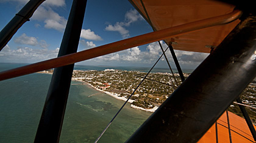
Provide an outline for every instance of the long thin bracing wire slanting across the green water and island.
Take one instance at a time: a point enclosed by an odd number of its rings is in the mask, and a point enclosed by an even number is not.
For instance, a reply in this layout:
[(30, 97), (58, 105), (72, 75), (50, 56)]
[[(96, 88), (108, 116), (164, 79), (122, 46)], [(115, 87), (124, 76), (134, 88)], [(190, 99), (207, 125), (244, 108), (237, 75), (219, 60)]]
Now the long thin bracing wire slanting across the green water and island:
[[(169, 47), (166, 48), (166, 50), (168, 50)], [(164, 53), (166, 52), (166, 50), (164, 51)], [(163, 53), (163, 54), (164, 54)], [(99, 141), (99, 139), (101, 139), (101, 136), (105, 133), (105, 131), (107, 130), (107, 128), (112, 124), (112, 122), (114, 121), (114, 119), (116, 118), (116, 116), (118, 116), (119, 112), (124, 108), (124, 105), (127, 104), (127, 102), (129, 101), (129, 99), (132, 97), (132, 95), (135, 93), (135, 91), (138, 89), (138, 87), (140, 87), (140, 85), (142, 84), (142, 82), (146, 79), (146, 77), (149, 75), (149, 73), (151, 72), (151, 70), (155, 67), (155, 65), (157, 64), (157, 62), (162, 58), (163, 54), (157, 59), (157, 61), (155, 62), (155, 64), (153, 65), (153, 67), (148, 71), (148, 73), (144, 76), (144, 78), (141, 80), (140, 84), (138, 84), (138, 86), (135, 88), (135, 90), (133, 90), (132, 94), (129, 96), (129, 98), (127, 98), (126, 102), (124, 102), (124, 104), (122, 105), (121, 108), (119, 108), (118, 112), (116, 113), (116, 115), (112, 118), (112, 120), (108, 123), (107, 127), (105, 127), (105, 129), (102, 131), (101, 135), (99, 135), (99, 137), (96, 139), (96, 142)]]

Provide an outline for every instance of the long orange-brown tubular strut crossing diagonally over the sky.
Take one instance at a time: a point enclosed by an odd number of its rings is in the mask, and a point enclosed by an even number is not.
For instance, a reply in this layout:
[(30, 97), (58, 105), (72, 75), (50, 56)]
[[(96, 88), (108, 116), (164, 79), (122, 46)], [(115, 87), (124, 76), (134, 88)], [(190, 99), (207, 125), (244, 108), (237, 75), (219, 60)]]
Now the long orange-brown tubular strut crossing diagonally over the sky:
[(74, 64), (76, 62), (85, 61), (87, 59), (96, 58), (98, 56), (107, 55), (127, 48), (136, 47), (138, 45), (148, 44), (162, 39), (171, 38), (172, 36), (180, 36), (184, 33), (191, 33), (204, 28), (213, 27), (215, 25), (227, 24), (235, 21), (241, 16), (241, 11), (234, 10), (232, 13), (214, 18), (202, 19), (200, 21), (190, 22), (188, 24), (177, 25), (175, 27), (158, 30), (133, 38), (124, 39), (118, 42), (102, 45), (82, 52), (73, 53), (59, 58), (49, 59), (43, 62), (26, 65), (24, 67), (15, 68), (9, 71), (2, 71), (0, 73), (0, 81), (17, 76), (23, 76), (37, 71), (47, 70), (55, 67), (62, 67), (64, 65)]

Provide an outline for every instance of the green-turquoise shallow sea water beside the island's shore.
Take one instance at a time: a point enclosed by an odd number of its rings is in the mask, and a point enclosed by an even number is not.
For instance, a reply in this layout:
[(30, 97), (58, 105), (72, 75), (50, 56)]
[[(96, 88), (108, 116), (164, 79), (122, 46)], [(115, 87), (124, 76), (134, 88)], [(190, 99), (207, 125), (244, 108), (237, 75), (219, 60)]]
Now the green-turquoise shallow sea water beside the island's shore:
[[(14, 66), (0, 64), (0, 71)], [(0, 82), (0, 142), (34, 142), (50, 80), (35, 73)], [(87, 85), (71, 85), (60, 142), (94, 142), (123, 103)], [(129, 105), (99, 142), (126, 141), (151, 115)]]

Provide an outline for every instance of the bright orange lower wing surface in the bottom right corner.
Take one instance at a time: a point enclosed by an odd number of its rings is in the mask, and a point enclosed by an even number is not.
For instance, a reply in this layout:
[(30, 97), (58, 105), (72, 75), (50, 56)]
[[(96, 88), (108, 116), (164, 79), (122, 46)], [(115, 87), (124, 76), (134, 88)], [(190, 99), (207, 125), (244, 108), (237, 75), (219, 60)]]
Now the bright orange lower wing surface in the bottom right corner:
[[(249, 130), (246, 121), (231, 112), (229, 112), (230, 129), (233, 143), (252, 143), (254, 138)], [(218, 119), (218, 141), (229, 141), (229, 129), (227, 125), (226, 112)], [(197, 143), (216, 143), (215, 124), (205, 133), (204, 136)]]

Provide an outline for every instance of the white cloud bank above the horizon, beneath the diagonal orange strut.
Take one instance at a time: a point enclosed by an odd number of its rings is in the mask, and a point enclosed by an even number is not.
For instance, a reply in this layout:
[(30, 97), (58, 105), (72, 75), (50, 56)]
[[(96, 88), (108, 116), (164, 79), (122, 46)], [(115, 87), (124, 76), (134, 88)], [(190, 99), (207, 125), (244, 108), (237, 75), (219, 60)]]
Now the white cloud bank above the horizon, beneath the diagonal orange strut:
[[(163, 41), (160, 41), (160, 43), (162, 44), (162, 47), (165, 50), (167, 48), (167, 45), (163, 44)], [(175, 52), (177, 58), (179, 59), (180, 65), (188, 68), (196, 67), (208, 56), (207, 53), (185, 52), (180, 50), (175, 50)], [(146, 50), (144, 51), (140, 50), (139, 47), (133, 47), (127, 50), (123, 50), (121, 52), (112, 53), (109, 55), (101, 56), (99, 58), (94, 58), (91, 61), (98, 63), (112, 61), (116, 63), (119, 62), (119, 64), (133, 63), (134, 65), (152, 65), (157, 61), (157, 59), (161, 55), (162, 49), (160, 48), (160, 45), (158, 44), (158, 42), (153, 42), (151, 44), (148, 44)], [(172, 66), (174, 66), (174, 61), (172, 60), (171, 52), (169, 50), (166, 51), (166, 56), (168, 58), (169, 63), (172, 64)], [(164, 56), (162, 56), (162, 59), (158, 64), (160, 64), (161, 66), (167, 66), (166, 59)]]

